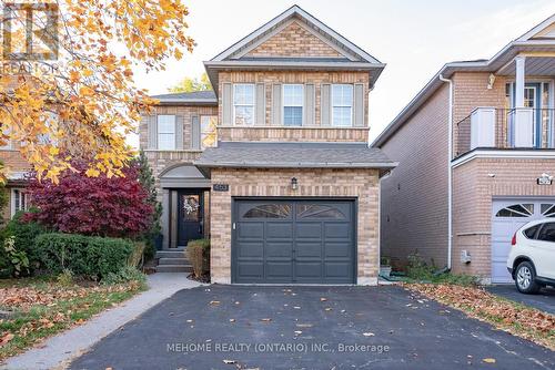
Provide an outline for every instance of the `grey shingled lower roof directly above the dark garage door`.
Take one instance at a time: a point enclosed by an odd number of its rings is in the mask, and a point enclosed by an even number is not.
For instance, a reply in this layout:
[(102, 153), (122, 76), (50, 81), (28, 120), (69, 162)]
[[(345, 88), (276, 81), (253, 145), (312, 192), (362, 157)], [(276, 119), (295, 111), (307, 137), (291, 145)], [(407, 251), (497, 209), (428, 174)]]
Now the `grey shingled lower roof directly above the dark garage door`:
[(220, 142), (194, 162), (199, 167), (393, 168), (396, 163), (375, 147), (353, 143)]

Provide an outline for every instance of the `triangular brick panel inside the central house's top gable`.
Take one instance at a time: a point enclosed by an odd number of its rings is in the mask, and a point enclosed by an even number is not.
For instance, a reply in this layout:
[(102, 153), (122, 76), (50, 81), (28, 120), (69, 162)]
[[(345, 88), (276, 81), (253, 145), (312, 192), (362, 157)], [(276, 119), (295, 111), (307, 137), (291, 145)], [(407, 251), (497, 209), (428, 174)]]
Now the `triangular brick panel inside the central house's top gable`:
[(264, 41), (245, 56), (342, 56), (299, 22), (291, 22), (281, 32)]

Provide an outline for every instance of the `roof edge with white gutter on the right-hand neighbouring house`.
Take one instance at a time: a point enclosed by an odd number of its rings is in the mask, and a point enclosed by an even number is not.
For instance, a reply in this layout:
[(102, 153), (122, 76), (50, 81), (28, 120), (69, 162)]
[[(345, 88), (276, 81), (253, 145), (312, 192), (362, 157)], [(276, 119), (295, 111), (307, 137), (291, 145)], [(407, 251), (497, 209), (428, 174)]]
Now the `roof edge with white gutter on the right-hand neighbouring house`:
[(371, 145), (377, 147), (384, 145), (387, 140), (390, 140), (390, 137), (392, 137), (395, 132), (437, 91), (437, 89), (444, 84), (441, 80), (442, 78), (448, 79), (455, 72), (507, 74), (511, 73), (506, 71), (507, 64), (509, 64), (519, 53), (555, 51), (555, 38), (535, 38), (535, 35), (552, 27), (554, 23), (555, 14), (552, 14), (519, 38), (511, 41), (491, 59), (458, 61), (444, 64)]

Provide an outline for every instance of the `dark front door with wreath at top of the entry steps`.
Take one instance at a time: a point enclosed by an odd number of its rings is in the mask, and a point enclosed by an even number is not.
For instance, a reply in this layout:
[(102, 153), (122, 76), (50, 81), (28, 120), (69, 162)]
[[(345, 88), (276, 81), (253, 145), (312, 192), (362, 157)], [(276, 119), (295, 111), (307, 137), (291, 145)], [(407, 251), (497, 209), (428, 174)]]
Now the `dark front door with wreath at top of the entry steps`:
[(203, 237), (204, 199), (202, 192), (178, 193), (178, 246)]

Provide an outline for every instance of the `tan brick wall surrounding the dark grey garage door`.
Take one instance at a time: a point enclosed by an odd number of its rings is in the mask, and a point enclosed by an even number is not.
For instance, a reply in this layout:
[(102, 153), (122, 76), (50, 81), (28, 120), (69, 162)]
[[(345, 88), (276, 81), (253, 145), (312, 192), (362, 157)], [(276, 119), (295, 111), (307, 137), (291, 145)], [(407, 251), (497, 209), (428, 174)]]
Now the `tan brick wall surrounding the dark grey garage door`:
[[(377, 169), (240, 169), (214, 168), (212, 183), (230, 185), (211, 195), (211, 274), (213, 282), (231, 282), (231, 199), (233, 196), (357, 198), (357, 284), (377, 284)], [(292, 177), (299, 189), (292, 191)]]

